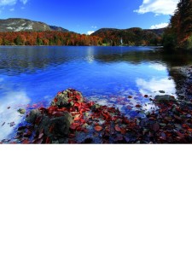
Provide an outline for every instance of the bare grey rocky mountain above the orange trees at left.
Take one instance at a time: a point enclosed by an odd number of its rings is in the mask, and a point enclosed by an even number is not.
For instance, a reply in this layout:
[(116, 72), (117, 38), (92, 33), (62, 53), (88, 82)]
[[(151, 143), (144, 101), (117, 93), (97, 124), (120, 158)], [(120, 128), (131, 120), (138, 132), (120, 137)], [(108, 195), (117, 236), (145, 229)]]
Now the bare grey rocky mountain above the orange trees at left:
[(44, 22), (11, 18), (0, 20), (0, 32), (44, 32), (44, 31), (60, 31), (69, 32), (67, 29), (60, 26), (49, 26)]

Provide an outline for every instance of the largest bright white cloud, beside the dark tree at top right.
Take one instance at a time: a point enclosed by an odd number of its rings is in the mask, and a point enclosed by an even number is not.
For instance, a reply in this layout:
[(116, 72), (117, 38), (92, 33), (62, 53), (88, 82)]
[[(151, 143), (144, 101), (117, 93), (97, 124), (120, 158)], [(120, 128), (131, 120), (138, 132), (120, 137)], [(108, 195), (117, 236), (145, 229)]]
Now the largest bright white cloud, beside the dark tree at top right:
[(179, 0), (143, 0), (143, 4), (134, 12), (142, 15), (149, 12), (155, 15), (173, 15), (178, 2)]

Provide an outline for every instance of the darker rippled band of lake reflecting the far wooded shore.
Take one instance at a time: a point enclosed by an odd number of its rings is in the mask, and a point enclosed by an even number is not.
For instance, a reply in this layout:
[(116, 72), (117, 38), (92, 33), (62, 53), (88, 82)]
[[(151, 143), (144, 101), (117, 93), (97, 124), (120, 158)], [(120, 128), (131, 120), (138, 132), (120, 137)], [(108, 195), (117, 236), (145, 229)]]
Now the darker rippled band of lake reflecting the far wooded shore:
[[(189, 65), (192, 56), (165, 53), (158, 47), (2, 47), (0, 46), (0, 73), (15, 75), (36, 73), (38, 69), (58, 67), (62, 64), (84, 60), (92, 63), (126, 62), (130, 64), (151, 63), (159, 69), (175, 65)], [(156, 63), (156, 64), (155, 64)]]

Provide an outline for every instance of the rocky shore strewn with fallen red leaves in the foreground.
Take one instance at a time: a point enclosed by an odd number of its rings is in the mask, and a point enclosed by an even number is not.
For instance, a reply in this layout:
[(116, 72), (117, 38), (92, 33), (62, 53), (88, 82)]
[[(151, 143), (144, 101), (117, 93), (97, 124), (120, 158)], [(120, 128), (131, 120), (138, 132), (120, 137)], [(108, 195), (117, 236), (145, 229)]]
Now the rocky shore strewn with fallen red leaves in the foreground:
[[(184, 83), (178, 80), (177, 99), (166, 94), (154, 99), (143, 95), (155, 106), (143, 117), (128, 118), (118, 108), (84, 99), (77, 90), (60, 91), (49, 108), (29, 113), (18, 110), (26, 114), (26, 123), (19, 125), (9, 143), (192, 143), (192, 67), (180, 73)], [(135, 108), (143, 113), (142, 105)]]

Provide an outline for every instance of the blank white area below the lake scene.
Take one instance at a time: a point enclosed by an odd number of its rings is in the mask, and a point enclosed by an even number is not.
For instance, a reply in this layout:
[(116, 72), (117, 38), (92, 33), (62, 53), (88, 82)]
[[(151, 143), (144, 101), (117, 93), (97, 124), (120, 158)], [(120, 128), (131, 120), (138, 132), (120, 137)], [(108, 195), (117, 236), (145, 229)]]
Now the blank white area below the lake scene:
[(190, 145), (0, 153), (1, 256), (192, 255)]

